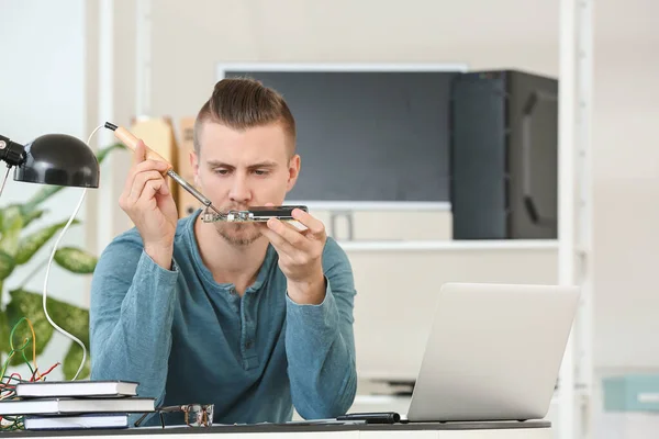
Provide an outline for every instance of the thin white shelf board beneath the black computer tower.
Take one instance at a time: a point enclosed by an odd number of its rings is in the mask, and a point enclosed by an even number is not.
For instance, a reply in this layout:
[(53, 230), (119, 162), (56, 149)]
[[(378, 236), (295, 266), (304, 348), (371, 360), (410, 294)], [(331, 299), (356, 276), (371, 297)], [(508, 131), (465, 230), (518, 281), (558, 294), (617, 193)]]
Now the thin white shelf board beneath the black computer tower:
[(339, 240), (345, 251), (558, 250), (555, 239)]

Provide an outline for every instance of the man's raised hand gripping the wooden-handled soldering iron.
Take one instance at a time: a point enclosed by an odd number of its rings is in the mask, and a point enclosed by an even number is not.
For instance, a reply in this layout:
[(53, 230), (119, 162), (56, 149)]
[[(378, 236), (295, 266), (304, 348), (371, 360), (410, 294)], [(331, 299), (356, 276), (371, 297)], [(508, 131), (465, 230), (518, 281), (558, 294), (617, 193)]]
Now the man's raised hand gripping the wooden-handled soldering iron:
[(169, 165), (165, 161), (147, 160), (146, 146), (142, 140), (135, 148), (134, 160), (119, 205), (142, 235), (148, 256), (169, 270), (178, 221), (176, 203), (163, 176)]

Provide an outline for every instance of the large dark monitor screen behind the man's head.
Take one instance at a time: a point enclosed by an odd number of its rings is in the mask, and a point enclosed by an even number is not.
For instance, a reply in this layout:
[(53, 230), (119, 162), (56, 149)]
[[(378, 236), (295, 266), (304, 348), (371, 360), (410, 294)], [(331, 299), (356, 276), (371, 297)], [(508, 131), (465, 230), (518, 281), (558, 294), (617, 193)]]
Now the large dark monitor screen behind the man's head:
[(223, 67), (283, 95), (301, 156), (287, 201), (449, 202), (450, 82), (458, 70)]

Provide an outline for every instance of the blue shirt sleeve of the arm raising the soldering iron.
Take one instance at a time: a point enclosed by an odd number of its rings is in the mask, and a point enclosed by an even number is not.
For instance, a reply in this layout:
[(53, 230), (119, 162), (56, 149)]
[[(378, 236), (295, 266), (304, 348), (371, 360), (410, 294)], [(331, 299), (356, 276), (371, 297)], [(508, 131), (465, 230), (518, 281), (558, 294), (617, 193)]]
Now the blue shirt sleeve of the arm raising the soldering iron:
[(92, 380), (135, 381), (138, 396), (165, 398), (178, 268), (157, 264), (141, 244), (119, 237), (91, 282)]

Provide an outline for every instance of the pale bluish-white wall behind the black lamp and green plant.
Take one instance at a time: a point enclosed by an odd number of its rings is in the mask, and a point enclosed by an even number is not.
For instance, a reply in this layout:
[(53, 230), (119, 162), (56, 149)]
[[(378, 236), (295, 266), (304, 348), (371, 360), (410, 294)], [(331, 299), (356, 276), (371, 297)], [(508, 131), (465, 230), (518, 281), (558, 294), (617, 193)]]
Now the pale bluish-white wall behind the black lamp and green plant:
[[(87, 139), (85, 90), (85, 2), (83, 0), (40, 0), (0, 2), (0, 133), (19, 143), (48, 133), (66, 133)], [(63, 25), (65, 24), (65, 25)], [(2, 167), (4, 169), (4, 167)], [(2, 206), (25, 200), (43, 185), (19, 183), (12, 179), (0, 204)], [(68, 219), (82, 193), (81, 189), (62, 191), (44, 206), (49, 210), (38, 224), (48, 225)], [(82, 206), (78, 218), (85, 221)], [(75, 233), (74, 233), (75, 232)], [(62, 246), (85, 246), (86, 228), (72, 226), (63, 238)], [(4, 284), (7, 292), (15, 288), (35, 268), (47, 259), (51, 248), (44, 247), (32, 263), (15, 270)], [(45, 270), (41, 270), (26, 288), (34, 292), (43, 290)], [(74, 303), (86, 302), (87, 282), (83, 277), (70, 274), (57, 266), (51, 270), (49, 294)], [(29, 317), (30, 316), (25, 316)], [(41, 368), (62, 361), (70, 341), (55, 334), (54, 342), (41, 360)], [(57, 368), (51, 379), (57, 379)]]

